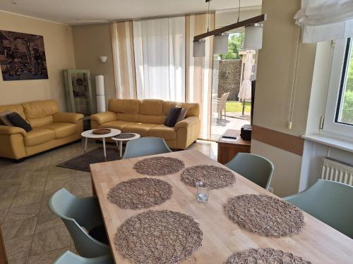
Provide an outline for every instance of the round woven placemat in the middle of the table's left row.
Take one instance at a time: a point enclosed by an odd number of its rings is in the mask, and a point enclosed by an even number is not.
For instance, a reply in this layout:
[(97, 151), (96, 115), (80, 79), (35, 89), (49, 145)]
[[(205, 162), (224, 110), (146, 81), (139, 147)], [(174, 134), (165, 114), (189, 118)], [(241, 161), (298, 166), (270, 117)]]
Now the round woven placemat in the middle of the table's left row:
[(166, 181), (137, 178), (116, 184), (110, 189), (108, 200), (124, 209), (141, 209), (164, 203), (172, 192), (172, 186)]

